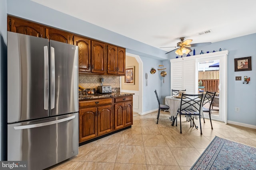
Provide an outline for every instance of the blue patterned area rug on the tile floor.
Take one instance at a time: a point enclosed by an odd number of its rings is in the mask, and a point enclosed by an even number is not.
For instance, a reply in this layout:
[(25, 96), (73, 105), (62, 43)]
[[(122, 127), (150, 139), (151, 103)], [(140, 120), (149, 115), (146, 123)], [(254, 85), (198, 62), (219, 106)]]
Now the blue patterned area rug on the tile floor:
[(214, 137), (190, 170), (256, 170), (256, 148)]

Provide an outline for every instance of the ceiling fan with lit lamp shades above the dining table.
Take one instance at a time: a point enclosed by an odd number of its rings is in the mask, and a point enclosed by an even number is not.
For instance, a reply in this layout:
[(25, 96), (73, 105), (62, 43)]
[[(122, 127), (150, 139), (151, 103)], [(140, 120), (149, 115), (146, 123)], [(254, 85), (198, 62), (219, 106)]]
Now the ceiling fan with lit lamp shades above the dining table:
[[(177, 43), (177, 46), (174, 47), (174, 48), (177, 48), (178, 49), (174, 49), (176, 50), (175, 53), (177, 55), (183, 55), (184, 53), (185, 54), (188, 54), (192, 51), (192, 49), (190, 49), (189, 47), (197, 47), (197, 46), (202, 46), (202, 45), (210, 45), (211, 43), (208, 42), (208, 43), (195, 43), (195, 44), (190, 44), (193, 40), (192, 39), (186, 39), (185, 41), (185, 37), (180, 37), (180, 42)], [(160, 48), (170, 48), (170, 47), (160, 47)], [(174, 51), (172, 50), (172, 51)], [(168, 54), (172, 51), (169, 51), (165, 54)]]

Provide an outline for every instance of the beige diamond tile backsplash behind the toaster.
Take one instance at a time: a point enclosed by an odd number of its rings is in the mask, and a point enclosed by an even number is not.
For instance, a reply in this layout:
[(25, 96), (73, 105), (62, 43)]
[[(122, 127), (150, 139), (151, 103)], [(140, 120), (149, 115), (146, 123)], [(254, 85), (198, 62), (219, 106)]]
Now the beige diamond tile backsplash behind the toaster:
[(79, 74), (79, 85), (83, 88), (95, 88), (100, 86), (100, 78), (104, 78), (103, 86), (120, 88), (120, 76), (102, 76), (91, 74)]

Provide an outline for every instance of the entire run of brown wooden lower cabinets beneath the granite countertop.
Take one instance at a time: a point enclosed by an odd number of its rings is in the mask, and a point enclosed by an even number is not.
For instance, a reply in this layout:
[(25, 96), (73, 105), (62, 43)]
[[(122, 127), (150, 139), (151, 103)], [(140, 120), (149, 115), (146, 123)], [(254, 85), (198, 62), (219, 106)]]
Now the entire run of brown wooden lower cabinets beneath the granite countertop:
[(79, 143), (132, 125), (132, 95), (113, 100), (79, 102)]

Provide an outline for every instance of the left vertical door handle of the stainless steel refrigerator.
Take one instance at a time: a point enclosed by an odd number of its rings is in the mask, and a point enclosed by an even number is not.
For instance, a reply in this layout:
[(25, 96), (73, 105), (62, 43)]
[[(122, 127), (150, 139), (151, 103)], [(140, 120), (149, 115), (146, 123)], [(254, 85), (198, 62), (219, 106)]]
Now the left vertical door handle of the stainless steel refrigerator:
[(48, 110), (49, 104), (49, 63), (48, 46), (44, 46), (44, 109)]

